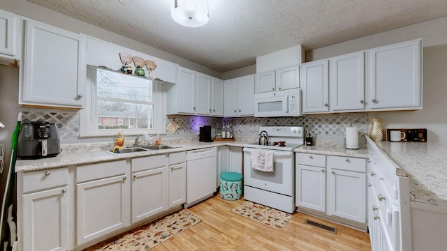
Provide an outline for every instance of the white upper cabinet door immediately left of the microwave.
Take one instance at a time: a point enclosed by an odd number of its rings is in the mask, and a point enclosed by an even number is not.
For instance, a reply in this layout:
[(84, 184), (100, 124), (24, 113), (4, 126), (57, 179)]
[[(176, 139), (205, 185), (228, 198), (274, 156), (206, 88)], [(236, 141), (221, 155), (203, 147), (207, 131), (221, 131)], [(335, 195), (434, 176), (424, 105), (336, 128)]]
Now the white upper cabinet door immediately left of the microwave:
[(254, 75), (237, 79), (237, 115), (254, 116)]

